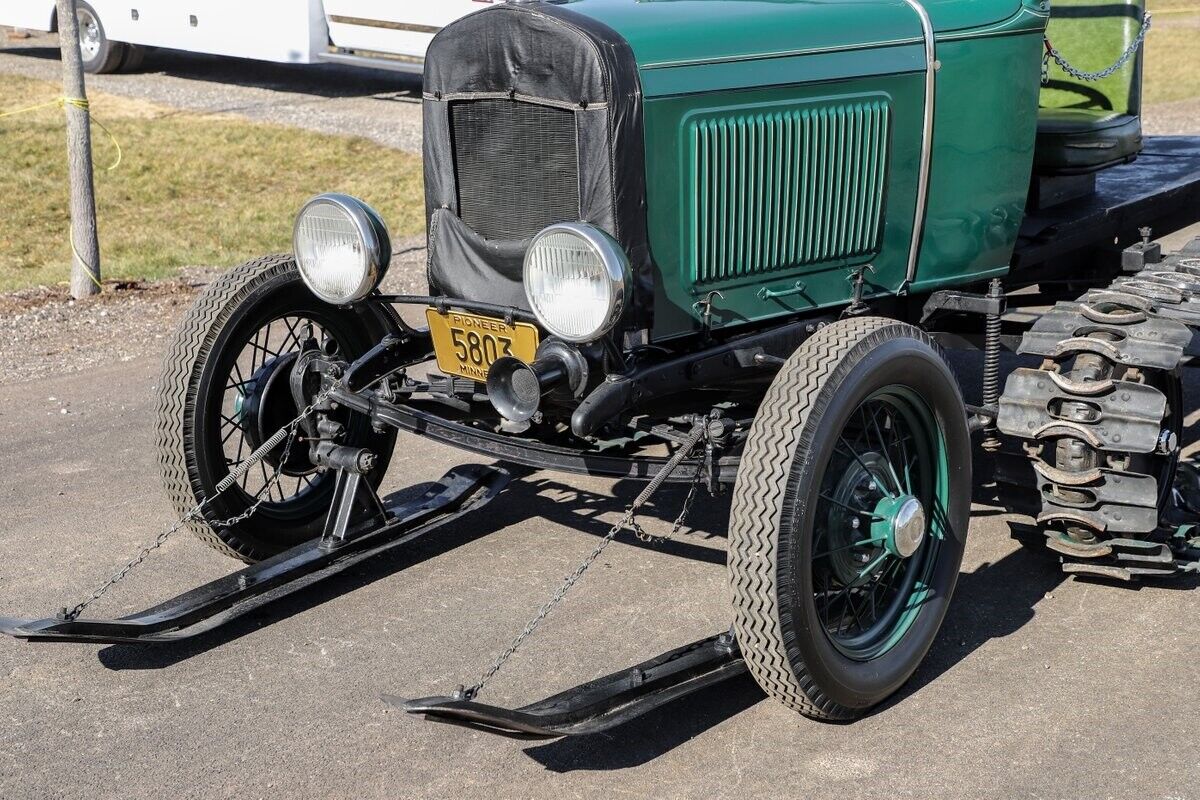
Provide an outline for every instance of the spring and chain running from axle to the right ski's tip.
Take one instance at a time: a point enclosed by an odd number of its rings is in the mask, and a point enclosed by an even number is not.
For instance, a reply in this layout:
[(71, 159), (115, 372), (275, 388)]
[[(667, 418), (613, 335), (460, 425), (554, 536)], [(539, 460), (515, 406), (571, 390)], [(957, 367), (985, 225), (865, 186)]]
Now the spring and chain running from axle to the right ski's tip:
[[(546, 603), (538, 610), (534, 618), (530, 619), (528, 624), (526, 624), (524, 628), (520, 633), (517, 633), (516, 638), (512, 639), (512, 643), (496, 657), (496, 661), (493, 661), (492, 666), (488, 667), (482, 675), (480, 675), (475, 685), (469, 688), (464, 688), (462, 686), (458, 687), (458, 690), (455, 692), (455, 696), (457, 698), (464, 700), (472, 700), (476, 696), (479, 696), (479, 692), (484, 690), (484, 686), (487, 684), (487, 681), (490, 681), (496, 675), (496, 673), (498, 673), (504, 667), (504, 664), (509, 661), (509, 658), (516, 655), (516, 651), (521, 648), (522, 644), (524, 644), (526, 639), (533, 636), (533, 632), (538, 630), (538, 626), (541, 625), (542, 620), (545, 620), (550, 615), (550, 613), (554, 610), (554, 608), (560, 602), (563, 602), (563, 599), (566, 597), (566, 594), (571, 590), (572, 587), (575, 587), (576, 583), (578, 583), (580, 578), (583, 577), (583, 573), (588, 571), (588, 567), (590, 567), (595, 563), (595, 560), (600, 558), (600, 554), (604, 553), (605, 548), (608, 547), (612, 540), (617, 537), (617, 534), (619, 534), (623, 530), (632, 530), (637, 535), (637, 537), (641, 539), (642, 541), (655, 541), (655, 537), (648, 536), (646, 531), (642, 530), (641, 525), (637, 524), (637, 511), (643, 505), (646, 505), (646, 503), (654, 495), (655, 492), (659, 491), (659, 488), (666, 482), (666, 480), (671, 477), (671, 474), (679, 468), (679, 464), (682, 464), (683, 461), (688, 456), (690, 456), (694, 450), (696, 450), (696, 445), (698, 445), (702, 440), (706, 440), (708, 438), (708, 434), (709, 434), (709, 420), (707, 417), (697, 420), (691, 429), (691, 433), (688, 434), (688, 438), (683, 441), (683, 444), (679, 445), (679, 449), (676, 450), (674, 455), (671, 456), (667, 463), (662, 465), (662, 469), (659, 470), (659, 473), (653, 479), (650, 479), (650, 482), (647, 483), (646, 488), (642, 489), (642, 493), (638, 494), (637, 498), (634, 500), (634, 503), (630, 504), (629, 509), (625, 510), (624, 516), (622, 516), (622, 518), (617, 522), (617, 524), (614, 524), (612, 528), (608, 529), (608, 533), (605, 534), (604, 539), (601, 539), (596, 543), (596, 546), (592, 549), (592, 552), (588, 553), (587, 558), (584, 558), (580, 563), (580, 565), (575, 569), (575, 571), (571, 575), (566, 576), (566, 578), (558, 587), (558, 589), (554, 590), (554, 594), (551, 595), (550, 600), (546, 601)], [(700, 475), (700, 471), (701, 470), (697, 469), (697, 477)], [(691, 489), (688, 492), (688, 498), (684, 500), (684, 510), (676, 519), (676, 524), (671, 529), (670, 535), (674, 535), (679, 530), (679, 528), (683, 527), (683, 519), (688, 513), (688, 507), (691, 505), (692, 498), (695, 497), (697, 485), (698, 480), (694, 480)], [(658, 537), (659, 541), (664, 539), (666, 537)]]

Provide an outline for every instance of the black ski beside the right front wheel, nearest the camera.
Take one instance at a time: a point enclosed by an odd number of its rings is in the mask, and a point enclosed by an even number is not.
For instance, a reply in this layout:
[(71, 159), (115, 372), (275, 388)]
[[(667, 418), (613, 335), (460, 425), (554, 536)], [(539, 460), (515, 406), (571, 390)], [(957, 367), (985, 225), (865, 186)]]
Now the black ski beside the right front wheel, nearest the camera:
[(426, 720), (514, 739), (554, 739), (608, 730), (745, 669), (733, 636), (722, 633), (516, 710), (454, 697), (383, 699)]

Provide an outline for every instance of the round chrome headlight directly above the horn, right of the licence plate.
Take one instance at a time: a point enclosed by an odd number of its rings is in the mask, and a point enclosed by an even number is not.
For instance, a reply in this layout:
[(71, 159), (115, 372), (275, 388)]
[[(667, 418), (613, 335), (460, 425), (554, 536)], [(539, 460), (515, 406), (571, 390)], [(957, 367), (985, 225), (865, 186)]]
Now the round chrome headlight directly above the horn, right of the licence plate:
[(568, 342), (593, 342), (611, 331), (629, 303), (630, 284), (620, 245), (588, 224), (551, 225), (526, 253), (529, 307), (546, 330)]

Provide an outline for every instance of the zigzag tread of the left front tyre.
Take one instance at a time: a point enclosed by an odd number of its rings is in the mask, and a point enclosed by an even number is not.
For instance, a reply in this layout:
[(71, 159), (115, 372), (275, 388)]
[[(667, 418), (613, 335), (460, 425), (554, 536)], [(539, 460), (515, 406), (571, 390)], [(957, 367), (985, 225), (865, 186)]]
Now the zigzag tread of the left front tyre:
[[(205, 497), (203, 485), (188, 468), (194, 440), (188, 409), (196, 405), (200, 373), (212, 345), (229, 315), (254, 289), (295, 269), (288, 254), (264, 255), (234, 267), (204, 289), (175, 330), (158, 379), (155, 447), (167, 498), (180, 517)], [(209, 547), (246, 563), (269, 555), (240, 541), (232, 530), (217, 533), (199, 522), (188, 523), (188, 529)]]

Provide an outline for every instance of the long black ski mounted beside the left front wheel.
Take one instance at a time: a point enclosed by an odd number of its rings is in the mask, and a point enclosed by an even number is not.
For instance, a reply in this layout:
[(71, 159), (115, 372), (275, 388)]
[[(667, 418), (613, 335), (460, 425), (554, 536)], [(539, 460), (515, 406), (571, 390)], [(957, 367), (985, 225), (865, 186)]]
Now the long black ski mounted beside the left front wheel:
[[(344, 517), (335, 518), (338, 511), (335, 507), (324, 536), (154, 608), (115, 620), (0, 618), (0, 633), (30, 642), (102, 644), (188, 639), (457, 519), (494, 499), (511, 479), (512, 473), (500, 467), (456, 467), (415, 500), (377, 506), (386, 515), (385, 522), (376, 518), (365, 525), (349, 527)], [(370, 487), (355, 483), (349, 494), (359, 491), (370, 492)]]

